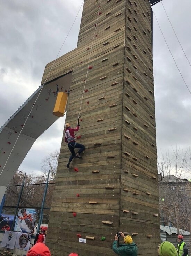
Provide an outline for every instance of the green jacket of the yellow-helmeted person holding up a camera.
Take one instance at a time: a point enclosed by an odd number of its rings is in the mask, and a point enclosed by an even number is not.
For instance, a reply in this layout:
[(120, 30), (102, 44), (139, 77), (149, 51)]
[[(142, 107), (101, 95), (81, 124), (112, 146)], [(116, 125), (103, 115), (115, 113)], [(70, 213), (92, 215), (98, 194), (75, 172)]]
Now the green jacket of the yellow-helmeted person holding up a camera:
[(113, 251), (121, 256), (137, 256), (137, 245), (135, 243), (130, 243), (130, 244), (119, 244), (118, 247), (118, 242), (114, 241), (112, 244), (112, 249)]

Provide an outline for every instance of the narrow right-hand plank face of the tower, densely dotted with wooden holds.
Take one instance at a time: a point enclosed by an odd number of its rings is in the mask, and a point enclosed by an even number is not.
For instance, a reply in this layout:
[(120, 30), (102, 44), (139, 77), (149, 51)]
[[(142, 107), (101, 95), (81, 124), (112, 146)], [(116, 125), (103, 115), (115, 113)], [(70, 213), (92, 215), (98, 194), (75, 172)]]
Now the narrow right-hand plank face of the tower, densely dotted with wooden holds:
[(127, 1), (120, 229), (139, 255), (157, 255), (160, 241), (151, 35), (149, 1)]

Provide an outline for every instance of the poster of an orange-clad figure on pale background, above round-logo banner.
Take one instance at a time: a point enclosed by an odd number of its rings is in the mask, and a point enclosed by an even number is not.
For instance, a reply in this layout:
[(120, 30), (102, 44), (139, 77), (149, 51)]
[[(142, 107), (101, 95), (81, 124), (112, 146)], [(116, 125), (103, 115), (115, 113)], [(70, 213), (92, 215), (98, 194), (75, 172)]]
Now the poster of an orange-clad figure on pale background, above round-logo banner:
[(14, 231), (34, 233), (37, 212), (36, 209), (19, 209), (15, 220)]

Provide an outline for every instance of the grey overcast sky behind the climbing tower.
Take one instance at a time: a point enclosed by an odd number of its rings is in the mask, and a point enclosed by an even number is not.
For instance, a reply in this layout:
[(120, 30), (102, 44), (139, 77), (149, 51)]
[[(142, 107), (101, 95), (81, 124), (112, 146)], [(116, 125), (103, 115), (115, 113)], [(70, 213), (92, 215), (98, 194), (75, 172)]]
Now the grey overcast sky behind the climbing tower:
[[(0, 126), (40, 86), (45, 65), (55, 59), (82, 0), (0, 0)], [(163, 0), (178, 39), (191, 62), (191, 1)], [(191, 67), (178, 44), (163, 5), (153, 7), (183, 78), (191, 90)], [(81, 14), (60, 55), (77, 46)], [(191, 145), (191, 95), (178, 72), (153, 17), (153, 66), (157, 149)], [(38, 172), (41, 161), (59, 150), (64, 118), (60, 118), (33, 145), (19, 170)], [(35, 159), (35, 161), (34, 161)]]

